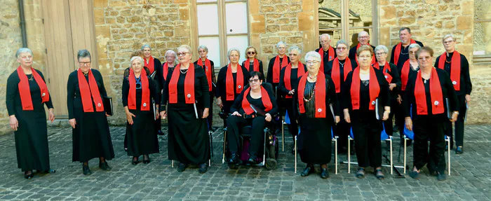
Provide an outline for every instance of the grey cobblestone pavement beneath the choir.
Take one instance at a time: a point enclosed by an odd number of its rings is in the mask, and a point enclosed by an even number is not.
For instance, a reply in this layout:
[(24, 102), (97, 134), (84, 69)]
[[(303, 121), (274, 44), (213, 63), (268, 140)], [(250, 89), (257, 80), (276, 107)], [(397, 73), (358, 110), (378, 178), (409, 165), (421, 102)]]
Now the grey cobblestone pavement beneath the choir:
[[(491, 179), (487, 176), (491, 176), (491, 125), (468, 126), (465, 132), (465, 152), (451, 152), (452, 176), (440, 182), (426, 168), (419, 180), (409, 176), (395, 179), (387, 167), (382, 181), (370, 174), (371, 169), (365, 179), (356, 179), (356, 165), (348, 174), (347, 165), (340, 164), (339, 174), (335, 174), (332, 162), (329, 179), (321, 179), (319, 172), (301, 177), (304, 164), (300, 162), (295, 174), (289, 134), (285, 137), (285, 152), (279, 155), (278, 169), (229, 170), (221, 163), (222, 130), (213, 134), (215, 156), (206, 174), (199, 174), (197, 167), (182, 173), (170, 167), (166, 136), (159, 136), (161, 153), (150, 155), (151, 163), (131, 165), (131, 157), (123, 151), (125, 127), (111, 128), (116, 152), (116, 158), (109, 161), (112, 170), (102, 171), (95, 159), (89, 163), (93, 174), (84, 176), (81, 164), (72, 162), (72, 131), (50, 127), (51, 167), (57, 172), (35, 174), (30, 180), (24, 179), (17, 168), (13, 134), (0, 137), (0, 200), (490, 200)], [(397, 136), (394, 138), (394, 161), (400, 164), (396, 159), (399, 141)], [(412, 148), (408, 154), (411, 165)], [(346, 158), (346, 154), (339, 154), (338, 161)]]

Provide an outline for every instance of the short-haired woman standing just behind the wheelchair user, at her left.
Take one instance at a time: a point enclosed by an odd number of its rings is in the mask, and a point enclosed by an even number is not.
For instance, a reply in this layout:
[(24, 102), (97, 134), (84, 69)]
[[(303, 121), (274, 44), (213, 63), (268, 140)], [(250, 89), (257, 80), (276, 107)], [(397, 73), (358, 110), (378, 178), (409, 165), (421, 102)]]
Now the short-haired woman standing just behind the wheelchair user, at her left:
[[(247, 69), (238, 64), (240, 51), (237, 48), (230, 48), (228, 55), (230, 63), (220, 69), (217, 80), (217, 106), (220, 106), (225, 114), (230, 113), (234, 100), (241, 94), (249, 80)], [(224, 119), (223, 127), (227, 125), (227, 119)]]

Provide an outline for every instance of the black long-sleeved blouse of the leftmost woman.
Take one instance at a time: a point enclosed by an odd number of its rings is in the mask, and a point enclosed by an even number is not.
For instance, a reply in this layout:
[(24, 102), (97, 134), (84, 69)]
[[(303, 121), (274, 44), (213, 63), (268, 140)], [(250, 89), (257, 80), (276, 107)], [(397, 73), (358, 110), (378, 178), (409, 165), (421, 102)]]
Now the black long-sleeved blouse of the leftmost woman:
[[(44, 76), (41, 73), (41, 71), (38, 71), (34, 69), (41, 78), (43, 78), (44, 81)], [(32, 74), (26, 75), (27, 78), (32, 78)], [(20, 83), (20, 78), (19, 75), (17, 74), (17, 71), (13, 71), (13, 73), (8, 76), (7, 79), (7, 92), (6, 92), (6, 106), (7, 106), (7, 111), (8, 111), (8, 116), (15, 115), (15, 108), (20, 107), (22, 109), (22, 102), (20, 100), (20, 92), (19, 92), (19, 83)], [(46, 83), (46, 81), (45, 81)], [(32, 81), (29, 81), (29, 90), (31, 92), (31, 99), (32, 99), (32, 106), (34, 108), (38, 106), (42, 106), (41, 102), (43, 99), (41, 98), (41, 88), (39, 88), (39, 85), (37, 84), (36, 80), (32, 78)], [(51, 95), (49, 97), (48, 102), (45, 102), (46, 106), (48, 109), (53, 108), (53, 102), (51, 102)]]

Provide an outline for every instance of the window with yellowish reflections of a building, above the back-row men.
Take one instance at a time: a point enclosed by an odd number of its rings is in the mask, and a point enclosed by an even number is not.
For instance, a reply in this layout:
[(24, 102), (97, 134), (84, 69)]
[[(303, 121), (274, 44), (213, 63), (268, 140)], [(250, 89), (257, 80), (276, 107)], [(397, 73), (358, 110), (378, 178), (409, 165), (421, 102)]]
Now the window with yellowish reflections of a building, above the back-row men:
[[(375, 27), (375, 28), (374, 28)], [(370, 34), (370, 44), (378, 44), (377, 0), (319, 1), (319, 35), (329, 34), (331, 46), (344, 39), (351, 47), (358, 45), (358, 33)]]

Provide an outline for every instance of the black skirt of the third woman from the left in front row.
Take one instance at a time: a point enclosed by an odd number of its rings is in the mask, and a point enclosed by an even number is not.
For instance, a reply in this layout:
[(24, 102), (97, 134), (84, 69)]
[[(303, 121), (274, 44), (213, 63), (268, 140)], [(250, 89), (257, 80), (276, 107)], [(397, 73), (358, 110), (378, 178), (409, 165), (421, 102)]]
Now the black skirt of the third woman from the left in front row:
[(159, 153), (159, 140), (155, 132), (154, 112), (135, 109), (130, 110), (130, 113), (133, 113), (135, 117), (133, 117), (133, 125), (126, 123), (128, 155), (140, 156)]

